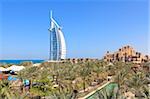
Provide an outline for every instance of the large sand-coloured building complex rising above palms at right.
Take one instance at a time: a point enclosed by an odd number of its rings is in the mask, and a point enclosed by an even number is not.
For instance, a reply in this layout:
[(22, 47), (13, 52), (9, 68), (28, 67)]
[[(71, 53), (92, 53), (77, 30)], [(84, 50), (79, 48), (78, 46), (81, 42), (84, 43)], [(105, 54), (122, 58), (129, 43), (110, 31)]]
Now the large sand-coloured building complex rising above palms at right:
[(140, 64), (147, 62), (149, 60), (149, 56), (136, 52), (131, 46), (124, 46), (114, 53), (107, 51), (104, 56), (104, 60), (108, 62), (123, 61)]

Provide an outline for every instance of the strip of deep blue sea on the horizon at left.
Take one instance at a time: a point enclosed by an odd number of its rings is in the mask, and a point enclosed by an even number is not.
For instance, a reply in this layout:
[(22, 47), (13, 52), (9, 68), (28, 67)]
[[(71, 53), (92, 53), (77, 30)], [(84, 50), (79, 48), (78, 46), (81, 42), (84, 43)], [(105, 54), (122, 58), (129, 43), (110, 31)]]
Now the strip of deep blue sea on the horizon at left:
[(0, 64), (20, 64), (22, 62), (42, 63), (45, 60), (0, 60)]

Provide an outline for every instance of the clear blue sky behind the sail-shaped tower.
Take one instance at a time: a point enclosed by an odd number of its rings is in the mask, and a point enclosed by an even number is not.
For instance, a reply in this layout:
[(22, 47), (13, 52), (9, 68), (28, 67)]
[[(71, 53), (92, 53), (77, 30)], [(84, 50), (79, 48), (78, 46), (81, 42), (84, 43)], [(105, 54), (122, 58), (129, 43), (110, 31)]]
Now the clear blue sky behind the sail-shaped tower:
[(101, 58), (123, 45), (148, 53), (148, 0), (2, 0), (0, 59), (48, 59), (50, 10), (68, 58)]

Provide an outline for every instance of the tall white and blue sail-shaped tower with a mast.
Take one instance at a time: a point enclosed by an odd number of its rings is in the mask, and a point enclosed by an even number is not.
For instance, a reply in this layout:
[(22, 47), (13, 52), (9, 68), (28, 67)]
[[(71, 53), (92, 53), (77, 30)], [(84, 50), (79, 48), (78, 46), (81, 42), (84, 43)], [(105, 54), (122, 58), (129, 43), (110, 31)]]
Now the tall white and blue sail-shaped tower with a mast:
[(50, 21), (51, 21), (50, 28), (48, 29), (50, 32), (49, 60), (50, 61), (64, 60), (66, 59), (66, 42), (62, 32), (62, 28), (54, 20), (52, 16), (52, 11)]

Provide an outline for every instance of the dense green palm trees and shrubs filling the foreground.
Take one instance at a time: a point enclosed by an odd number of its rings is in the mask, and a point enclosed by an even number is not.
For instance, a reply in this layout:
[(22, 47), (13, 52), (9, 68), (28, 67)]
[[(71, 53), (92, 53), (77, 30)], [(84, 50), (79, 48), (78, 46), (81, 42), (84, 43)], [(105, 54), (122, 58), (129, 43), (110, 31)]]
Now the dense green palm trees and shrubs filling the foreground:
[[(125, 99), (127, 92), (133, 93), (137, 99), (150, 99), (150, 87), (148, 87), (150, 71), (143, 68), (143, 66), (150, 67), (150, 63), (143, 64), (136, 71), (133, 69), (134, 66), (133, 63), (124, 62), (109, 64), (103, 60), (76, 64), (44, 62), (40, 66), (26, 66), (26, 69), (18, 73), (18, 77), (31, 81), (26, 98), (41, 96), (49, 99), (74, 99), (91, 91), (87, 88), (101, 85), (107, 81), (108, 76), (112, 76), (111, 81), (117, 83), (119, 87), (117, 99)], [(15, 96), (13, 94), (10, 82), (0, 83), (1, 97), (17, 97), (17, 93)], [(24, 95), (26, 93), (23, 92)], [(107, 95), (105, 93), (107, 92), (104, 90), (100, 95)]]

